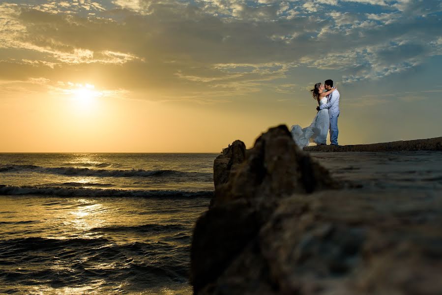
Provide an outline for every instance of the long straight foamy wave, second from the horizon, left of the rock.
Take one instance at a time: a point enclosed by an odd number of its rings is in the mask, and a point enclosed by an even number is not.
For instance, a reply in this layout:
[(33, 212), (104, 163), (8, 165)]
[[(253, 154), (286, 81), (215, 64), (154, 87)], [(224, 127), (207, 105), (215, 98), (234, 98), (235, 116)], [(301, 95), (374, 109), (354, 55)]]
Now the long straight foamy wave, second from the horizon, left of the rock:
[(0, 195), (48, 195), (62, 197), (211, 198), (213, 191), (123, 190), (82, 187), (36, 187), (0, 184)]

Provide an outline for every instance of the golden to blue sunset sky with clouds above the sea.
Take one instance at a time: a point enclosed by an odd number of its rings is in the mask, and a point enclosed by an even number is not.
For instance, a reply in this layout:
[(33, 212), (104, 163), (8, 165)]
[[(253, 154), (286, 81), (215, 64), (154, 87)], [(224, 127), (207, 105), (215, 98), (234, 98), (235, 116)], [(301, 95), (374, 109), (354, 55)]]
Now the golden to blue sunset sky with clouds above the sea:
[(307, 126), (442, 136), (440, 0), (1, 0), (0, 152), (219, 152)]

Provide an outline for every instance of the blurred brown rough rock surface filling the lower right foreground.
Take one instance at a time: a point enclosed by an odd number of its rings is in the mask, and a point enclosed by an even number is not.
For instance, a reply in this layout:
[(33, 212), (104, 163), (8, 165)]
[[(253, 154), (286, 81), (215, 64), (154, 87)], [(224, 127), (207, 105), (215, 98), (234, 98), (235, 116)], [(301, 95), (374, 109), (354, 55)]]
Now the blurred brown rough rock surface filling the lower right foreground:
[(196, 294), (439, 295), (441, 204), (419, 194), (380, 202), (349, 191), (284, 198)]

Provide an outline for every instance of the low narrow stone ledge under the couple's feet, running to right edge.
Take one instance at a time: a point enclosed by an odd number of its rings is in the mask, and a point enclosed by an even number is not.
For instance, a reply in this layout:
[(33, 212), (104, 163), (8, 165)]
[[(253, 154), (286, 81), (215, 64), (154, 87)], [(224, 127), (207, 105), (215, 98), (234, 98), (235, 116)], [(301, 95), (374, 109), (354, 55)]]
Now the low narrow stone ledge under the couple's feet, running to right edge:
[(413, 151), (413, 150), (442, 150), (442, 137), (429, 139), (416, 139), (396, 141), (391, 143), (379, 143), (370, 145), (348, 146), (311, 146), (305, 147), (305, 151)]

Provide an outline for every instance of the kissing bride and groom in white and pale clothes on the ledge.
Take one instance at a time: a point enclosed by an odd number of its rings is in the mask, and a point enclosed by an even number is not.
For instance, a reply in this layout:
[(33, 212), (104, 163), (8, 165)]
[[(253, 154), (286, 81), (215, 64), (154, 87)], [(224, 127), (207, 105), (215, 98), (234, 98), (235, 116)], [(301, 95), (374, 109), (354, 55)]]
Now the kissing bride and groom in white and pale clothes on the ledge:
[(310, 91), (313, 93), (313, 98), (318, 101), (319, 106), (316, 108), (318, 114), (308, 127), (293, 125), (291, 128), (293, 139), (300, 148), (307, 147), (310, 142), (326, 145), (327, 133), (330, 132), (331, 145), (337, 146), (339, 91), (333, 87), (332, 80), (326, 80), (324, 85), (316, 83), (315, 88)]

